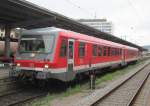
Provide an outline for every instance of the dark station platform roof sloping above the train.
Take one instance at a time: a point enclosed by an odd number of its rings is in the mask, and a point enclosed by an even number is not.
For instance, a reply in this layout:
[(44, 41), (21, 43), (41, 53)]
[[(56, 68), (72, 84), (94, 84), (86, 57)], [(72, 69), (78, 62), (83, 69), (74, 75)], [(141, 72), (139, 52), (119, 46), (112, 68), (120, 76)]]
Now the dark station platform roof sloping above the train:
[(25, 0), (1, 0), (0, 24), (25, 29), (55, 26), (145, 50), (136, 44), (101, 32)]

